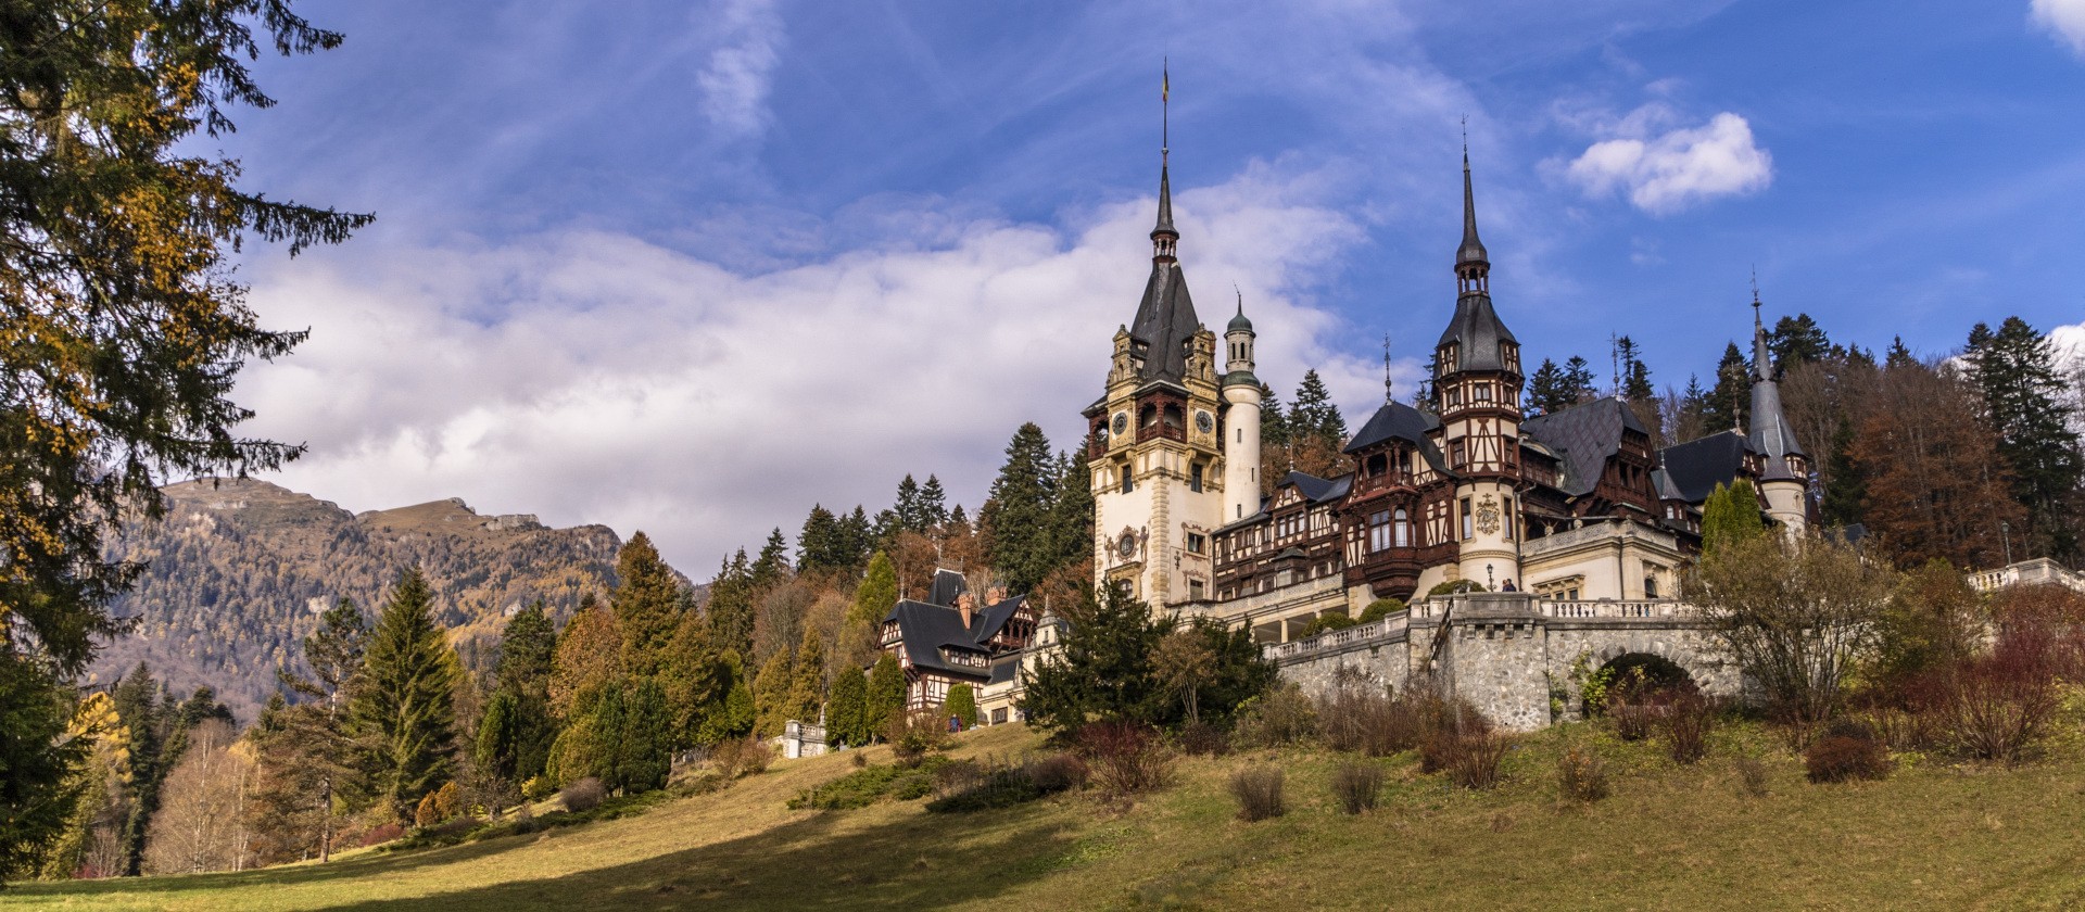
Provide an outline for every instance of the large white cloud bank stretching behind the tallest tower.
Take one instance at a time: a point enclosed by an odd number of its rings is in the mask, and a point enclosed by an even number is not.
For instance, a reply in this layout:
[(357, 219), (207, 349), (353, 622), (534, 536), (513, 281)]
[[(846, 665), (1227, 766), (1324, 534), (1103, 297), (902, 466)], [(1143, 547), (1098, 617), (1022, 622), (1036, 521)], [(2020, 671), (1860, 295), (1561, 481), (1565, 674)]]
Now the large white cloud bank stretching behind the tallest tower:
[[(1359, 233), (1293, 196), (1264, 169), (1178, 194), (1201, 319), (1222, 327), (1236, 281), (1268, 377), (1316, 364), (1334, 394), (1380, 396), (1380, 364), (1330, 354), (1336, 321), (1284, 296)], [(953, 246), (765, 275), (586, 231), (348, 248), (256, 283), (267, 325), (313, 335), (238, 400), (254, 433), (311, 444), (273, 479), (288, 487), (644, 529), (707, 577), (813, 502), (884, 506), (905, 473), (974, 510), (1022, 421), (1070, 446), (1134, 316), (1149, 223), (1151, 200), (1074, 231), (972, 219)]]

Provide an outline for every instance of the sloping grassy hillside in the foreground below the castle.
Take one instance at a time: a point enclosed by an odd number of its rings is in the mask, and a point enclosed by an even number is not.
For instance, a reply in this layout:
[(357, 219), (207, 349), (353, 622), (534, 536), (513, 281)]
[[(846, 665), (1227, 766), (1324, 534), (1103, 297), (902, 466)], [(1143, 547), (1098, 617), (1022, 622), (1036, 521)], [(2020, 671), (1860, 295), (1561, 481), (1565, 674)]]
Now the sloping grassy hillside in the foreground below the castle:
[[(1597, 743), (1616, 795), (1560, 806), (1555, 752)], [(957, 756), (1034, 748), (1022, 727), (963, 735)], [(1747, 797), (1731, 756), (1768, 758)], [(869, 754), (886, 762), (884, 750)], [(1341, 816), (1336, 756), (1186, 760), (1130, 806), (1090, 795), (940, 816), (922, 802), (784, 810), (851, 770), (847, 756), (778, 762), (736, 787), (644, 816), (415, 854), (246, 875), (17, 885), (10, 910), (2072, 910), (2085, 908), (2079, 745), (2018, 770), (1899, 758), (1881, 783), (1810, 785), (1751, 729), (1699, 766), (1655, 743), (1566, 727), (1518, 739), (1510, 783), (1451, 789), (1409, 756), (1382, 760), (1384, 808)], [(1224, 791), (1245, 764), (1289, 775), (1291, 812), (1238, 822)]]

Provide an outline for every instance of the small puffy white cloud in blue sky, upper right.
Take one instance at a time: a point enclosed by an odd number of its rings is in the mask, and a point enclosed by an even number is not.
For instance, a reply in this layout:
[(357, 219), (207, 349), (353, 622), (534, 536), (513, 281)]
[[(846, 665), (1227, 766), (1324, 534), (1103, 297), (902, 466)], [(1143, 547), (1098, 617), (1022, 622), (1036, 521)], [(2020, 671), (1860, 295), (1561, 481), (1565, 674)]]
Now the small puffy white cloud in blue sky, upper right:
[(1620, 189), (1651, 214), (1772, 183), (1774, 156), (1753, 142), (1743, 117), (1722, 112), (1701, 127), (1666, 129), (1674, 119), (1664, 104), (1637, 108), (1605, 129), (1612, 140), (1595, 142), (1564, 173), (1589, 196)]

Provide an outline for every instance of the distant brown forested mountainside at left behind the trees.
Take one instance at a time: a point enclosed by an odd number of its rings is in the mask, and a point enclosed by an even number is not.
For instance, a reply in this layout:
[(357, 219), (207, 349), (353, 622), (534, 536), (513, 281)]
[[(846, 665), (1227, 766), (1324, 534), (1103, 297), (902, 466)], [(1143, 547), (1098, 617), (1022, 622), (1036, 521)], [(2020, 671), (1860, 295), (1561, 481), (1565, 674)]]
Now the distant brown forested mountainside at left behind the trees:
[(461, 500), (352, 514), (267, 481), (169, 485), (169, 512), (133, 529), (117, 556), (150, 566), (117, 604), (131, 637), (94, 666), (111, 683), (140, 660), (177, 693), (211, 685), (240, 716), (275, 691), (319, 612), (342, 596), (373, 612), (398, 571), (419, 566), (436, 618), (467, 666), (496, 650), (505, 612), (544, 600), (569, 614), (584, 593), (615, 587), (615, 531), (546, 529), (534, 516), (480, 516)]

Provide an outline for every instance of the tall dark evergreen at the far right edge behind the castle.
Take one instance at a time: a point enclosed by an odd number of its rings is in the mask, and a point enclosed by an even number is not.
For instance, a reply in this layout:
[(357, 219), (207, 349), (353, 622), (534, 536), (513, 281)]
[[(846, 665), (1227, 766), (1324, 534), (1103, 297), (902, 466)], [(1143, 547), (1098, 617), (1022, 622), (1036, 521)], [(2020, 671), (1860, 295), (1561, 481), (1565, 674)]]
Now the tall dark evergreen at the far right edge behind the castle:
[(2079, 435), (2068, 427), (2068, 383), (2056, 373), (2056, 352), (2027, 321), (2008, 316), (1995, 333), (1977, 325), (1966, 360), (2037, 550), (2064, 558), (2077, 554), (2077, 529), (2066, 506), (2085, 477), (2085, 458)]

